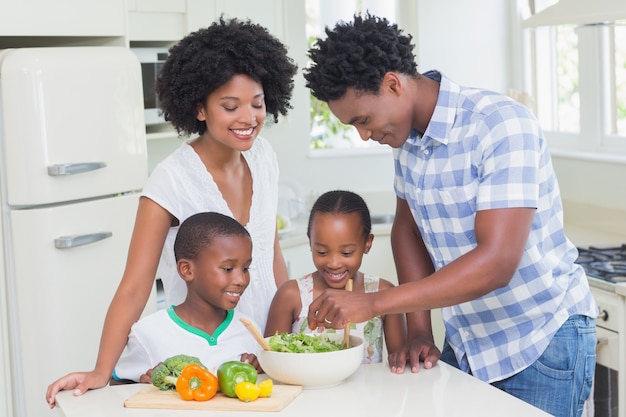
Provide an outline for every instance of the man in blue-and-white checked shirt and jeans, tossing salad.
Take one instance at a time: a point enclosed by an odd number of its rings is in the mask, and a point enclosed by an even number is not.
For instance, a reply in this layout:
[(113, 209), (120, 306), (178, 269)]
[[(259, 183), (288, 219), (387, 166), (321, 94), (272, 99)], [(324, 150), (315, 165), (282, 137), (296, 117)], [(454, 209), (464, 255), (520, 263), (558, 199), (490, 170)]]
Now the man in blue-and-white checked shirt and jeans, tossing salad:
[[(341, 328), (406, 312), (403, 359), (413, 372), (441, 357), (548, 413), (579, 416), (595, 368), (597, 307), (574, 264), (536, 119), (503, 95), (419, 74), (411, 36), (386, 19), (355, 16), (326, 34), (309, 51), (307, 86), (363, 140), (394, 148), (391, 239), (402, 285), (327, 290), (309, 323)], [(437, 307), (441, 353), (430, 327)], [(405, 362), (390, 365), (402, 373)]]

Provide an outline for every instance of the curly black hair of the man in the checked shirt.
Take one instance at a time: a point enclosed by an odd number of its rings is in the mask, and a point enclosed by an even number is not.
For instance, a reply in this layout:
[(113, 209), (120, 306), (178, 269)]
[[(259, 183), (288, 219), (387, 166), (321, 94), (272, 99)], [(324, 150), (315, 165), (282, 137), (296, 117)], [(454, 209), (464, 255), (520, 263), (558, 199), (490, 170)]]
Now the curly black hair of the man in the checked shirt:
[(386, 18), (355, 14), (353, 22), (340, 21), (325, 32), (326, 39), (309, 49), (313, 63), (304, 70), (306, 86), (319, 100), (339, 99), (350, 87), (377, 93), (389, 71), (419, 76), (412, 36)]

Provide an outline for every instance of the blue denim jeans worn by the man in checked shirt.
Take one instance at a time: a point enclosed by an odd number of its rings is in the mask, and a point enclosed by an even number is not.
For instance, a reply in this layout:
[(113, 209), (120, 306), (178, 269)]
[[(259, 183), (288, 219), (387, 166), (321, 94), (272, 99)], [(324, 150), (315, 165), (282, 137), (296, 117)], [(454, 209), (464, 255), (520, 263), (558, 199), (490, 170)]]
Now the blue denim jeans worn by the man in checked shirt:
[[(535, 363), (491, 385), (554, 416), (580, 417), (591, 393), (596, 344), (595, 319), (572, 316)], [(447, 341), (441, 360), (459, 367)]]

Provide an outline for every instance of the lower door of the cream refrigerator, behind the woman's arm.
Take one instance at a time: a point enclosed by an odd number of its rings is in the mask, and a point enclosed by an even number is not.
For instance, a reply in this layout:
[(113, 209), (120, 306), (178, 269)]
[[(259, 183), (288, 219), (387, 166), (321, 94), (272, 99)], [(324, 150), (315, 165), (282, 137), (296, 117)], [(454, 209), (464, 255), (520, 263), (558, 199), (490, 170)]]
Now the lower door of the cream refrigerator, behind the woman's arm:
[[(16, 326), (13, 361), (21, 371), (13, 389), (23, 390), (17, 406), (25, 407), (17, 415), (48, 415), (43, 398), (48, 384), (68, 372), (93, 369), (137, 204), (133, 194), (11, 212), (9, 279), (17, 314), (10, 319)], [(92, 234), (92, 243), (80, 245)], [(72, 246), (70, 236), (83, 239)], [(155, 310), (153, 298), (146, 312)]]

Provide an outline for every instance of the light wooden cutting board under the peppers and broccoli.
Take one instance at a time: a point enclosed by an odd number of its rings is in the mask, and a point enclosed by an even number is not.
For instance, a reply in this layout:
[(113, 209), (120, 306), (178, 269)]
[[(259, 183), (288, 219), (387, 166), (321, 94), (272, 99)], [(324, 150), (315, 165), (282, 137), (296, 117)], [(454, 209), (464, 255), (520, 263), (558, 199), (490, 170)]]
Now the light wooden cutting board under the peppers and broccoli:
[(176, 391), (161, 391), (148, 385), (124, 401), (127, 408), (165, 408), (176, 410), (213, 411), (280, 411), (302, 392), (300, 385), (274, 384), (272, 396), (246, 403), (218, 392), (209, 401), (185, 401)]

